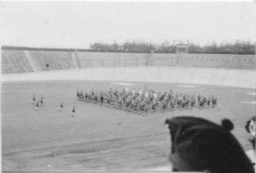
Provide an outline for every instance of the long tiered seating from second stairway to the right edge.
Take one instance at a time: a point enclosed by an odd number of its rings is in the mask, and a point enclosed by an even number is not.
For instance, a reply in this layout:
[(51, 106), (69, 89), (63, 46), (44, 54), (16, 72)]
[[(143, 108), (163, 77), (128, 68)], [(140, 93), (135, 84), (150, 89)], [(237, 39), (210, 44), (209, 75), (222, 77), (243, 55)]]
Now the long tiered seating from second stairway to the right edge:
[(81, 68), (94, 66), (195, 66), (253, 69), (253, 56), (220, 54), (165, 53), (88, 53), (79, 52)]

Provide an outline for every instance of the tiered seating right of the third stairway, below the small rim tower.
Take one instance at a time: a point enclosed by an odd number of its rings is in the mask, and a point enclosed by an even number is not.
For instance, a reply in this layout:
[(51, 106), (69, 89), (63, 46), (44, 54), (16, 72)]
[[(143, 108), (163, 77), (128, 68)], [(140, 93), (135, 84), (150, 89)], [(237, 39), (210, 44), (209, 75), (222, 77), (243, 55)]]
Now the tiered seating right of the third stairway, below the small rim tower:
[(150, 66), (194, 66), (254, 69), (253, 55), (220, 54), (154, 54)]

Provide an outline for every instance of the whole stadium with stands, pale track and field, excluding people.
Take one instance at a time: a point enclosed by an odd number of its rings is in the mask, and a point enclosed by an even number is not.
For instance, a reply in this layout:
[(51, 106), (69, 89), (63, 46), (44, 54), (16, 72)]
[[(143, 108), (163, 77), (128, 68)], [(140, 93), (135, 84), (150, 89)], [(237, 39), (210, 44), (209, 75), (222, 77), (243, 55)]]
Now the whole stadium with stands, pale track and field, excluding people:
[[(232, 134), (254, 161), (244, 129), (255, 114), (254, 66), (254, 55), (2, 47), (2, 171), (170, 171), (164, 121), (178, 116), (232, 120)], [(218, 103), (135, 114), (76, 97), (77, 90), (144, 86), (213, 95)], [(33, 95), (42, 94), (36, 111)]]

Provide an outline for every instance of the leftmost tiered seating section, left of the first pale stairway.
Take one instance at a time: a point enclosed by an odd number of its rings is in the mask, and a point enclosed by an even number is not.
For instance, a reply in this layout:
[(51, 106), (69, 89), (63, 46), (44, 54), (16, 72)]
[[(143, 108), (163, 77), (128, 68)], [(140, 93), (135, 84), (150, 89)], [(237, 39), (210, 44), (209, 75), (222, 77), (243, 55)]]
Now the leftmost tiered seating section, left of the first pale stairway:
[(2, 50), (2, 73), (33, 72), (22, 50)]

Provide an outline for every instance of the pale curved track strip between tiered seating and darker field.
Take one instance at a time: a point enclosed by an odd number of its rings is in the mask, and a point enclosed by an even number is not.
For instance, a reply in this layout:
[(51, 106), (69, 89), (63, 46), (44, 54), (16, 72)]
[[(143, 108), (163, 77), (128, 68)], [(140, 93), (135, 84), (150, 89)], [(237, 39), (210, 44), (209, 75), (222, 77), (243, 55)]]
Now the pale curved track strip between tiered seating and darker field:
[(174, 66), (98, 67), (2, 75), (3, 81), (27, 80), (107, 80), (186, 83), (256, 88), (255, 70), (230, 70)]

